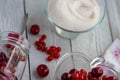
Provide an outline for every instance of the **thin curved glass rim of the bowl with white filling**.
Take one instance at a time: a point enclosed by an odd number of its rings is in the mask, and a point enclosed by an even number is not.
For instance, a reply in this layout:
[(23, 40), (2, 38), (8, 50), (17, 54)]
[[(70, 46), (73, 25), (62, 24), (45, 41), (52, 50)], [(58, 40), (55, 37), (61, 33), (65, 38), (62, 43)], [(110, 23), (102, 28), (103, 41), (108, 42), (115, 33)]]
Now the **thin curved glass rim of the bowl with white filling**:
[[(43, 3), (43, 5), (44, 5), (44, 3)], [(45, 7), (45, 6), (43, 6), (43, 7)], [(97, 25), (99, 25), (99, 24), (103, 21), (103, 19), (104, 19), (104, 17), (105, 17), (105, 13), (106, 13), (106, 11), (105, 11), (105, 4), (103, 4), (103, 8), (104, 8), (103, 14), (102, 14), (101, 18), (99, 18), (98, 22), (97, 22), (94, 26), (92, 26), (91, 28), (89, 28), (89, 29), (87, 29), (87, 30), (83, 30), (83, 31), (72, 31), (72, 30), (64, 29), (64, 28), (62, 28), (61, 26), (57, 25), (57, 24), (50, 18), (50, 16), (48, 15), (48, 12), (47, 12), (47, 9), (46, 9), (46, 8), (44, 9), (44, 13), (45, 13), (46, 17), (48, 18), (48, 21), (49, 21), (51, 24), (55, 25), (55, 27), (58, 27), (58, 28), (60, 28), (60, 29), (62, 29), (62, 30), (64, 30), (64, 31), (67, 31), (67, 32), (84, 33), (84, 32), (88, 32), (88, 31), (94, 29), (95, 27), (97, 27)]]

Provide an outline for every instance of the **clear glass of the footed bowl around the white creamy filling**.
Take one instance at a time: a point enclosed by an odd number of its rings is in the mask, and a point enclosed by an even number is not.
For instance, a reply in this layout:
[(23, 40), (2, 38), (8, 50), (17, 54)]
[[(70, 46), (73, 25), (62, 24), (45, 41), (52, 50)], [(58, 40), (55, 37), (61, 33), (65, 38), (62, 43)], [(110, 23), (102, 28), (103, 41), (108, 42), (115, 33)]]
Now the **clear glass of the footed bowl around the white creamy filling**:
[[(94, 26), (90, 27), (89, 29), (81, 30), (81, 31), (79, 31), (79, 30), (78, 31), (74, 31), (74, 30), (65, 29), (62, 26), (56, 24), (54, 22), (54, 20), (50, 17), (50, 15), (48, 13), (48, 2), (49, 1), (50, 0), (42, 0), (44, 13), (45, 13), (47, 19), (50, 21), (50, 23), (53, 24), (57, 34), (59, 34), (61, 37), (64, 37), (64, 38), (75, 38), (79, 33), (90, 31), (91, 29), (93, 29), (96, 26), (98, 26), (98, 24), (100, 24), (103, 21), (104, 16), (105, 16), (105, 3), (104, 3), (104, 0), (96, 0), (98, 5), (100, 6), (100, 18), (99, 18), (98, 22)], [(60, 5), (60, 6), (62, 6), (62, 5)]]

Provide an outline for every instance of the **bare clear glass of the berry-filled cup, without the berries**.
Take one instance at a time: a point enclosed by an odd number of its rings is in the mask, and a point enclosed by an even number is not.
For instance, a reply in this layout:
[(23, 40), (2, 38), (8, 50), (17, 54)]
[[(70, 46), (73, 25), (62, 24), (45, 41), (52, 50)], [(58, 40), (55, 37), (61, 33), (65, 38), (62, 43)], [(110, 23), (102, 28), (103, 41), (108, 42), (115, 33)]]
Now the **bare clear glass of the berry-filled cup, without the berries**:
[[(95, 63), (97, 65), (95, 65)], [(94, 64), (94, 66), (92, 64)], [(103, 75), (114, 76), (117, 79), (117, 72), (114, 69), (100, 64), (100, 61), (98, 62), (97, 59), (91, 60), (81, 52), (66, 53), (57, 63), (53, 80), (63, 80), (61, 76), (66, 72), (70, 73), (71, 69), (77, 69), (78, 71), (84, 69), (87, 72), (86, 76), (88, 76), (89, 72), (95, 67), (102, 68)], [(69, 75), (69, 77), (71, 77), (71, 75)]]

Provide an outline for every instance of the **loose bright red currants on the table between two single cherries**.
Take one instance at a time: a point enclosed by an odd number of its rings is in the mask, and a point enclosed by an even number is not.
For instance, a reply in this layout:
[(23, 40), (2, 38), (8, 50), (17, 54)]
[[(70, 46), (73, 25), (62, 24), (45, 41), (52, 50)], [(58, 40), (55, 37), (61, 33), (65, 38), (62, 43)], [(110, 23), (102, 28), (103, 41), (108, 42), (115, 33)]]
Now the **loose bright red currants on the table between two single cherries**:
[(48, 49), (46, 47), (45, 39), (46, 35), (42, 35), (38, 41), (35, 41), (35, 46), (37, 50), (46, 52), (49, 56), (47, 57), (47, 61), (52, 61), (54, 58), (58, 59), (60, 57), (61, 48), (50, 46)]

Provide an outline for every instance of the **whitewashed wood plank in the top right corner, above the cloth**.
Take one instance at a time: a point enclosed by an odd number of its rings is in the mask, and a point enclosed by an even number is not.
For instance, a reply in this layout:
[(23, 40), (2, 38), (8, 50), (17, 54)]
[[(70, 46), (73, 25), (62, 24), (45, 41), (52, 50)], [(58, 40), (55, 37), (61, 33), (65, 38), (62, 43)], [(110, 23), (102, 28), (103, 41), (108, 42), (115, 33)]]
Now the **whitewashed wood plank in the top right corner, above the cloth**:
[(105, 0), (113, 40), (120, 36), (120, 0)]

